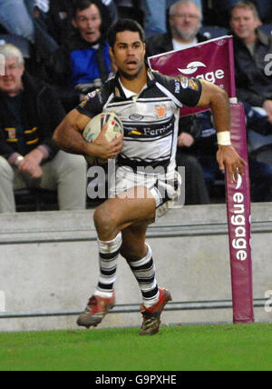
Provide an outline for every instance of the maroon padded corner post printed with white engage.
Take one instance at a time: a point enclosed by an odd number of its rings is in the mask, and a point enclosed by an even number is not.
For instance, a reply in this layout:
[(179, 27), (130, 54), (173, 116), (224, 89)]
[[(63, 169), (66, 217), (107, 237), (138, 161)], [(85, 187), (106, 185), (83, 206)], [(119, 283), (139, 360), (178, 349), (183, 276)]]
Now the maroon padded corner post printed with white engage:
[[(231, 142), (238, 154), (248, 162), (244, 106), (231, 104)], [(228, 237), (230, 251), (233, 322), (254, 323), (251, 258), (251, 201), (248, 165), (244, 175), (230, 184), (226, 175)]]

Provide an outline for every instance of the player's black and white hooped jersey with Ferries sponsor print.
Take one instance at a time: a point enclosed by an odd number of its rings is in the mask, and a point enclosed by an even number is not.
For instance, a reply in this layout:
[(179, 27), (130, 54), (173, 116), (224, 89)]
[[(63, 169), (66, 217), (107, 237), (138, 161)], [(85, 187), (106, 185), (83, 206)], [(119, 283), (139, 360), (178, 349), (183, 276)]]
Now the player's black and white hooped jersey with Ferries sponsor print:
[(124, 127), (119, 166), (175, 168), (180, 108), (196, 106), (202, 85), (194, 78), (173, 78), (148, 70), (148, 83), (140, 95), (127, 97), (118, 75), (112, 76), (99, 91), (87, 95), (77, 107), (93, 117), (114, 111)]

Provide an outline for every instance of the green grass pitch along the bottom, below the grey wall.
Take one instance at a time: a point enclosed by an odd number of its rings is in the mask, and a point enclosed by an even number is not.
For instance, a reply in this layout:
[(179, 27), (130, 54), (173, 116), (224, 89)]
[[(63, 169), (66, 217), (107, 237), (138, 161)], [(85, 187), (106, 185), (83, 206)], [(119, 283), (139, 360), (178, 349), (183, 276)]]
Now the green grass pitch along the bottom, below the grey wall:
[(0, 334), (0, 371), (270, 371), (272, 324)]

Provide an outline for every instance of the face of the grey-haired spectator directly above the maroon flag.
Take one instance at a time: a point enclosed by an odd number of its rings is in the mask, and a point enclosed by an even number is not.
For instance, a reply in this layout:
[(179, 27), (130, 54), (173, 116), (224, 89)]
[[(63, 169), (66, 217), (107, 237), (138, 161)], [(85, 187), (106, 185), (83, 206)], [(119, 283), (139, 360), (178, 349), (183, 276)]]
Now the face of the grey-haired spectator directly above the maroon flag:
[(197, 5), (180, 4), (175, 15), (170, 16), (170, 27), (173, 35), (189, 41), (199, 33), (200, 12)]

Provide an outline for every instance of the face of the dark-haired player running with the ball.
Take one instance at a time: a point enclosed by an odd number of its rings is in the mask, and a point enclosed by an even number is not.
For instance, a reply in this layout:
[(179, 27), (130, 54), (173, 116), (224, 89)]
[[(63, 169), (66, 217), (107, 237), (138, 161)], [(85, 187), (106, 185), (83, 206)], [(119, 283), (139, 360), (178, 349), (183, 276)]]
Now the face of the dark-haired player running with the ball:
[(118, 33), (111, 55), (118, 71), (127, 79), (134, 79), (144, 67), (145, 44), (138, 32)]

